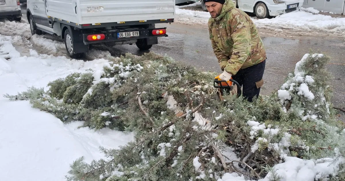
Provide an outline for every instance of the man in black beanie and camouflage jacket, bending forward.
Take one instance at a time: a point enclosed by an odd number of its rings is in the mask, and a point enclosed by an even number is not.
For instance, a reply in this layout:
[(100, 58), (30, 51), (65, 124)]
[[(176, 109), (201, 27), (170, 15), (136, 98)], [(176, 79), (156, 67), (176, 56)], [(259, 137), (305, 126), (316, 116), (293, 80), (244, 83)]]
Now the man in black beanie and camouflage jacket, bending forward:
[(219, 66), (221, 80), (234, 79), (243, 87), (250, 102), (258, 98), (264, 83), (266, 51), (255, 24), (232, 0), (204, 0), (211, 17), (210, 40)]

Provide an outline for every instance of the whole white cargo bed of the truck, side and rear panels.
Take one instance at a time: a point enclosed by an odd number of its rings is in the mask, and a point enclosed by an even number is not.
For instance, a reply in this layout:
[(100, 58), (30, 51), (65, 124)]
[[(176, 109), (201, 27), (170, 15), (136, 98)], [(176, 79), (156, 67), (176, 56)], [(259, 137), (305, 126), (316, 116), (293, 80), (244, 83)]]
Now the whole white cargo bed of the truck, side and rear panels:
[(175, 0), (48, 0), (47, 16), (78, 24), (174, 19)]

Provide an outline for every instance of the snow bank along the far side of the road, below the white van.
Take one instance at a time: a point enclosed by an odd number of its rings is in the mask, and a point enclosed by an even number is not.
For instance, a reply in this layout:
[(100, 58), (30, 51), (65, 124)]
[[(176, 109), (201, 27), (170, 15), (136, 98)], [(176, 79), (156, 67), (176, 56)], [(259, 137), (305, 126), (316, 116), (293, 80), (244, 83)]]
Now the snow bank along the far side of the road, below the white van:
[[(187, 6), (196, 6), (199, 3)], [(176, 6), (177, 23), (203, 24), (207, 26), (210, 14), (205, 11), (181, 9), (186, 6)], [(289, 35), (332, 35), (345, 37), (345, 18), (333, 18), (313, 8), (303, 8), (298, 12), (290, 12), (272, 19), (252, 18), (255, 25), (273, 34)]]

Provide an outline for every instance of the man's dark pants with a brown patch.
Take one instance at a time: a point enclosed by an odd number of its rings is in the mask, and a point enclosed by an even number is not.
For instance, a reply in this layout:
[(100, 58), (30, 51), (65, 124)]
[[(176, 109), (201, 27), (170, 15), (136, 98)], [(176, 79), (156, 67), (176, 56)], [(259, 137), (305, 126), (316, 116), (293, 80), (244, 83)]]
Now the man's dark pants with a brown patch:
[(254, 66), (239, 70), (232, 79), (237, 81), (243, 87), (243, 96), (252, 102), (253, 98), (259, 97), (261, 86), (263, 85), (263, 75), (265, 70), (266, 60)]

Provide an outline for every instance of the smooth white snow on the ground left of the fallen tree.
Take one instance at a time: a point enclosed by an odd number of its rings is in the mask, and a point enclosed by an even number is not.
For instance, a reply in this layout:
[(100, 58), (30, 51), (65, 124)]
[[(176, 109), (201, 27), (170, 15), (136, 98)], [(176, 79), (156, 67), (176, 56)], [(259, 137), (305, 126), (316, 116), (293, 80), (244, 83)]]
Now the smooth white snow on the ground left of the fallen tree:
[[(108, 60), (74, 60), (30, 50), (21, 56), (13, 47), (16, 37), (0, 34), (0, 95), (43, 87), (70, 73), (100, 70)], [(29, 101), (0, 97), (0, 180), (64, 181), (70, 164), (84, 157), (90, 163), (104, 158), (99, 147), (119, 148), (134, 139), (132, 133), (104, 128), (79, 128), (83, 122), (64, 124), (54, 115), (32, 108)], [(18, 174), (18, 170), (20, 174)], [(15, 175), (15, 176), (14, 176)]]

